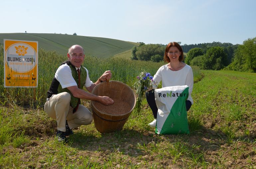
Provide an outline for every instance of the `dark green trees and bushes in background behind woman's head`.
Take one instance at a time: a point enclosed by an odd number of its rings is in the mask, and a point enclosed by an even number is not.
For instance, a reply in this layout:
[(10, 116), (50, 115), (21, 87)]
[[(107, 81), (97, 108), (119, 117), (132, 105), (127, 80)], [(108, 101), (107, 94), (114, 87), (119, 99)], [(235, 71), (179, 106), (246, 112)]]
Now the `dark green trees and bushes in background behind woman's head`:
[[(161, 62), (166, 45), (145, 44), (132, 48), (132, 60)], [(179, 42), (180, 44), (181, 42)], [(232, 43), (200, 43), (182, 45), (185, 55), (184, 62), (188, 65), (198, 66), (203, 70), (234, 70), (256, 72), (256, 37), (248, 38), (243, 44)]]

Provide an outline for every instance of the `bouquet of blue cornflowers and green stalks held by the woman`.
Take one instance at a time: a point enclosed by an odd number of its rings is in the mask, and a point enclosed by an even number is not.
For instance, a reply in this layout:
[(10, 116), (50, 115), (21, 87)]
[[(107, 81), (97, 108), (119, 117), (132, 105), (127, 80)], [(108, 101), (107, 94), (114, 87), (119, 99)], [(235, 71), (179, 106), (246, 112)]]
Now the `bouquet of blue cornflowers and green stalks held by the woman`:
[(141, 72), (139, 76), (137, 76), (138, 81), (135, 82), (134, 84), (134, 89), (136, 90), (136, 95), (137, 95), (137, 102), (135, 105), (135, 112), (138, 114), (141, 113), (142, 109), (142, 100), (144, 93), (148, 89), (156, 89), (157, 88), (157, 83), (153, 81), (153, 76), (151, 76), (150, 73), (148, 72)]

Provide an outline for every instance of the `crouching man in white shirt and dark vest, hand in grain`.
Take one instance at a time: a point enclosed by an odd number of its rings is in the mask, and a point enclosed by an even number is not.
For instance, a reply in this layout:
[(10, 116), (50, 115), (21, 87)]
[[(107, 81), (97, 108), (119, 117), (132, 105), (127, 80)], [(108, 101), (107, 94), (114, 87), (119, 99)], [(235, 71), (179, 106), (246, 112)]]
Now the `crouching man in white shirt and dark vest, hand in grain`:
[[(89, 78), (88, 70), (81, 66), (85, 58), (84, 49), (79, 45), (73, 45), (68, 49), (67, 57), (68, 60), (55, 72), (44, 107), (48, 116), (57, 121), (58, 141), (65, 141), (66, 136), (73, 134), (73, 128), (91, 123), (92, 114), (80, 104), (80, 99), (96, 100), (105, 105), (114, 103), (107, 96), (91, 94), (97, 84), (112, 77), (111, 71), (105, 71), (93, 83)], [(83, 86), (89, 92), (84, 91)]]

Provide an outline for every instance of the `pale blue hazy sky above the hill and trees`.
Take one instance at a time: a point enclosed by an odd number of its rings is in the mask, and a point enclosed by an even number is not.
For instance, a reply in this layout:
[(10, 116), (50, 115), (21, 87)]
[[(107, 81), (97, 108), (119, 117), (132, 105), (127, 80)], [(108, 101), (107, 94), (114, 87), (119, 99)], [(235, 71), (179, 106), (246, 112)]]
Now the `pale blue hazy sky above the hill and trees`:
[(256, 37), (255, 0), (5, 0), (0, 33), (62, 33), (132, 42), (242, 44)]

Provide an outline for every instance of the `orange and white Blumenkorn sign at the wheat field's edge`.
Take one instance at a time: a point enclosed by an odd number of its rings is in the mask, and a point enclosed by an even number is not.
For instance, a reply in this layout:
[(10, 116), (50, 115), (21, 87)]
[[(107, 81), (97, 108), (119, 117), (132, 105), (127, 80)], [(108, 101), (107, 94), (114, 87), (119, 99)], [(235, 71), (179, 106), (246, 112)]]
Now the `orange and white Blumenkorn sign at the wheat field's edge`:
[(4, 76), (4, 87), (37, 87), (37, 41), (4, 39)]

